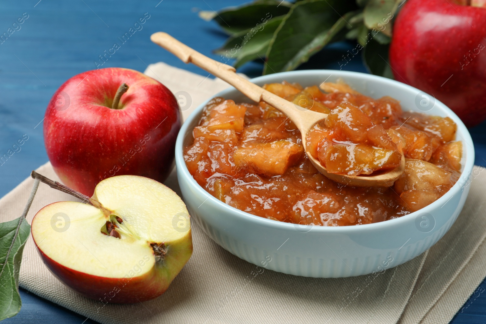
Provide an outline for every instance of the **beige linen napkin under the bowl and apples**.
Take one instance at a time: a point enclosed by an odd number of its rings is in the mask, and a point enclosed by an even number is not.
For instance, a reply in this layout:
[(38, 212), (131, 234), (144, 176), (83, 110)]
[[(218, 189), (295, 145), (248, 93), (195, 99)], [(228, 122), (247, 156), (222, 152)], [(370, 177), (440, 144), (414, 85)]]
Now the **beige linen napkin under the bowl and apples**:
[[(228, 86), (163, 63), (150, 65), (145, 73), (186, 104), (184, 117)], [(265, 270), (248, 281), (256, 266), (226, 252), (194, 225), (191, 259), (162, 296), (143, 304), (104, 305), (69, 290), (44, 266), (32, 239), (24, 249), (19, 283), (101, 323), (447, 323), (485, 276), (483, 170), (475, 169), (478, 175), (464, 211), (442, 240), (428, 253), (371, 279), (306, 278)], [(38, 171), (58, 180), (50, 163)], [(165, 184), (179, 193), (174, 171)], [(0, 222), (22, 213), (32, 185), (27, 178), (0, 200)], [(41, 184), (27, 220), (62, 200), (75, 198)]]

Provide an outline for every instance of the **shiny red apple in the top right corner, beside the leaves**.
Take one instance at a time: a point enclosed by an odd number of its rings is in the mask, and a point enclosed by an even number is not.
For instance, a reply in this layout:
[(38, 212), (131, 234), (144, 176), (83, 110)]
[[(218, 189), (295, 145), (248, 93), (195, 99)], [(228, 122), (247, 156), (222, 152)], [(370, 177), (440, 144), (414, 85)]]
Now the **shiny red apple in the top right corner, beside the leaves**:
[(479, 124), (486, 119), (486, 9), (408, 0), (395, 21), (390, 65), (396, 80), (432, 94), (466, 126)]

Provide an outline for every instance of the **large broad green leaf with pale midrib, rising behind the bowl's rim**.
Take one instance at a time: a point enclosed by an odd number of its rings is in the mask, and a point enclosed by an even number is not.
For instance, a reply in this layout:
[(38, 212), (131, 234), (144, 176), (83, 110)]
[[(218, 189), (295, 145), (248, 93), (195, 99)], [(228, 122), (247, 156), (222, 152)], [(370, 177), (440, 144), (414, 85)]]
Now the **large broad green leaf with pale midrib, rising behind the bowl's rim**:
[(347, 25), (350, 16), (341, 15), (350, 9), (356, 7), (342, 0), (296, 2), (270, 41), (263, 74), (289, 71), (306, 62)]

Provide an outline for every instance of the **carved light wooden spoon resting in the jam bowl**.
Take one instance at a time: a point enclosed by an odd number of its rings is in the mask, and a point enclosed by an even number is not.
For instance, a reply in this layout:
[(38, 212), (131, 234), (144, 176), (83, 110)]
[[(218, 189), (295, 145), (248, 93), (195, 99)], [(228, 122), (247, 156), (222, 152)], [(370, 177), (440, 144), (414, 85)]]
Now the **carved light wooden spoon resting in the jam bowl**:
[[(246, 97), (250, 98), (255, 102), (266, 102), (282, 113), (287, 115), (287, 117), (292, 120), (292, 122), (297, 126), (300, 133), (302, 134), (302, 145), (304, 149), (306, 148), (306, 134), (311, 129), (311, 127), (318, 121), (325, 119), (328, 115), (323, 113), (318, 113), (306, 108), (302, 108), (293, 102), (289, 102), (277, 95), (255, 85), (243, 77), (236, 74), (236, 69), (223, 64), (221, 62), (210, 59), (209, 57), (194, 51), (189, 46), (179, 42), (177, 39), (171, 35), (163, 32), (158, 32), (152, 34), (150, 39), (163, 47), (167, 51), (170, 51), (175, 56), (180, 58), (184, 63), (192, 63), (200, 68), (205, 69), (214, 76), (225, 80), (230, 85), (234, 86), (240, 90)], [(370, 175), (357, 175), (350, 176), (346, 174), (329, 173), (326, 168), (321, 165), (319, 160), (312, 157), (312, 155), (307, 152), (307, 156), (311, 160), (314, 167), (324, 174), (326, 177), (339, 182), (344, 185), (355, 186), (355, 187), (390, 187), (393, 183), (400, 177), (400, 175), (405, 170), (405, 158), (401, 156), (400, 165), (388, 171), (375, 172), (378, 174)]]

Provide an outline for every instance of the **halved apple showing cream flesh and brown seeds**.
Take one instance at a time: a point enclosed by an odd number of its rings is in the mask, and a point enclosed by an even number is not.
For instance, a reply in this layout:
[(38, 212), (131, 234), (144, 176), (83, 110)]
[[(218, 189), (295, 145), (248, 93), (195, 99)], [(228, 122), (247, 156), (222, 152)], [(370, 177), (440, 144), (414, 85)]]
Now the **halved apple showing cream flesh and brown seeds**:
[(164, 293), (192, 254), (182, 200), (135, 175), (103, 180), (93, 198), (105, 209), (66, 201), (37, 212), (31, 231), (44, 263), (66, 286), (104, 304)]

